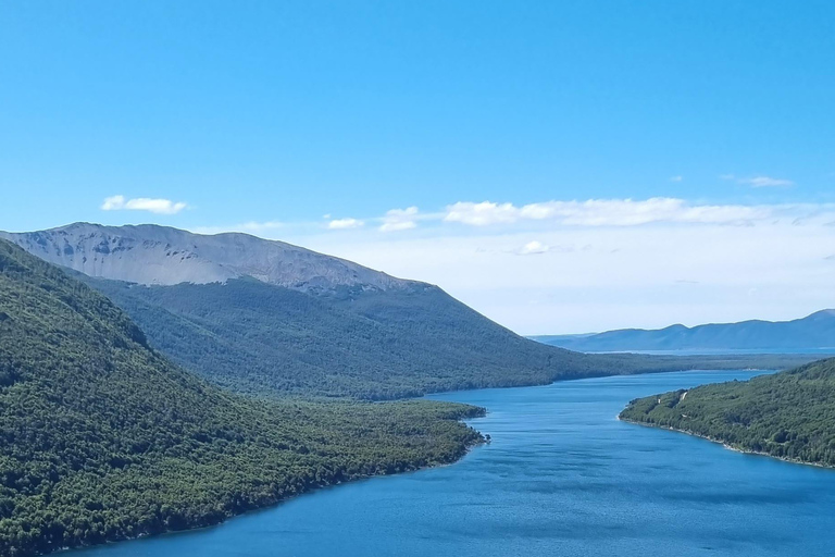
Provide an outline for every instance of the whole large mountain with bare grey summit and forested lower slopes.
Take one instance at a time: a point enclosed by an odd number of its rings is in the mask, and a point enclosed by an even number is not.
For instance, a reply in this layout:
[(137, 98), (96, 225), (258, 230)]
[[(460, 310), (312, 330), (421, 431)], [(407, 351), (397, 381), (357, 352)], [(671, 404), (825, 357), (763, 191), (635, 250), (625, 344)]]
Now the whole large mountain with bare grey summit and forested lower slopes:
[[(262, 396), (391, 399), (786, 363), (554, 348), (514, 334), (437, 286), (242, 234), (76, 224), (7, 236), (38, 257), (92, 275), (77, 276), (125, 310), (150, 345), (177, 363), (224, 387)], [(299, 258), (315, 264), (295, 263)], [(171, 284), (184, 276), (192, 281)]]

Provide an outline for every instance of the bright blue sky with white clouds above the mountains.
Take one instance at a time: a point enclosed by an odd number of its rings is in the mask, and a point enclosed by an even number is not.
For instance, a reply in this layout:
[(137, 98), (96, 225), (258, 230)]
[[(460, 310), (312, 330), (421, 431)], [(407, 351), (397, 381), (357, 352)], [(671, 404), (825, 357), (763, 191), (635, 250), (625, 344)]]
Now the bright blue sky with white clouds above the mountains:
[[(835, 306), (834, 22), (828, 1), (4, 2), (0, 228), (244, 230), (523, 333), (799, 317)], [(751, 227), (785, 257), (755, 260)], [(662, 258), (707, 236), (702, 265), (658, 285), (645, 262), (628, 293), (598, 285), (603, 256), (565, 260), (677, 234)]]

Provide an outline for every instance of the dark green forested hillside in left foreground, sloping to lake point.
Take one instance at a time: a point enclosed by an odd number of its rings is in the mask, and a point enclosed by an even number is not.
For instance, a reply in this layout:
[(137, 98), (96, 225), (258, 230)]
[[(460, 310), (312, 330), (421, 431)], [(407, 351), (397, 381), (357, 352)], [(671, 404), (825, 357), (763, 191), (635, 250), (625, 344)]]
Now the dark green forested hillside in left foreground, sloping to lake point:
[(151, 349), (99, 293), (0, 240), (0, 555), (219, 522), (450, 462), (482, 409), (242, 398)]

